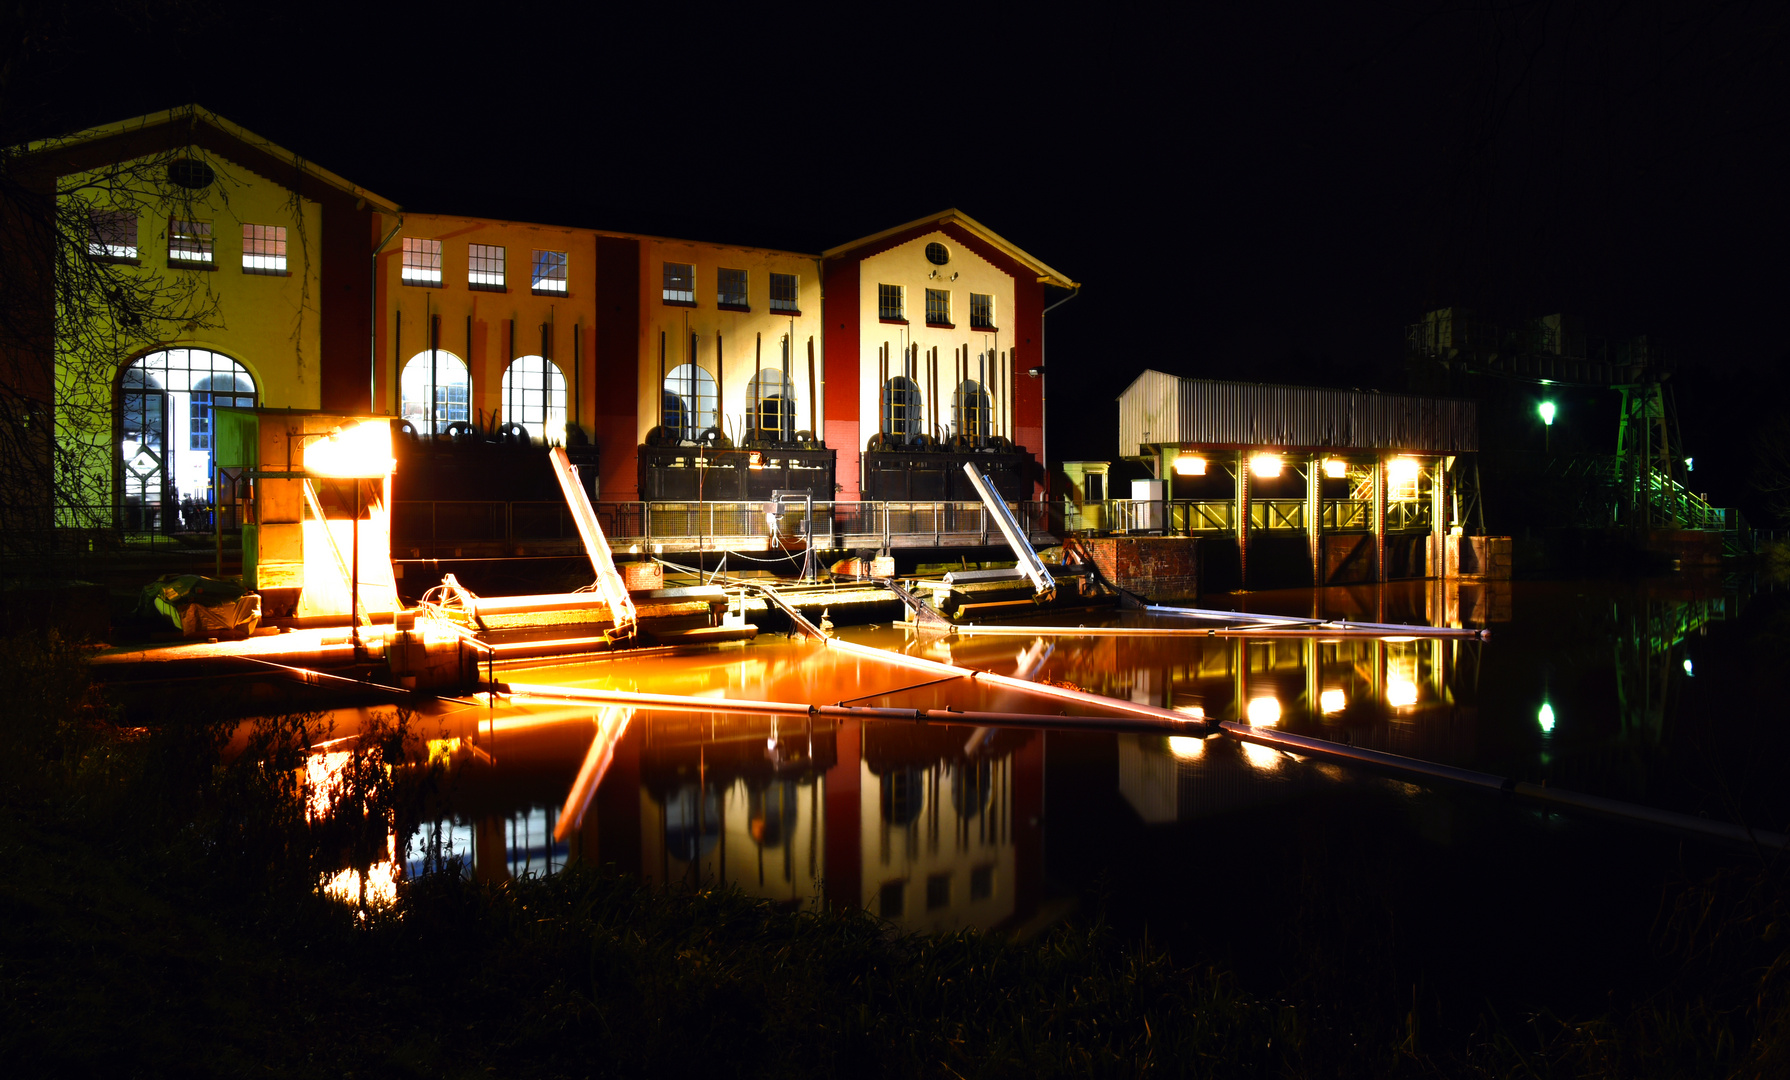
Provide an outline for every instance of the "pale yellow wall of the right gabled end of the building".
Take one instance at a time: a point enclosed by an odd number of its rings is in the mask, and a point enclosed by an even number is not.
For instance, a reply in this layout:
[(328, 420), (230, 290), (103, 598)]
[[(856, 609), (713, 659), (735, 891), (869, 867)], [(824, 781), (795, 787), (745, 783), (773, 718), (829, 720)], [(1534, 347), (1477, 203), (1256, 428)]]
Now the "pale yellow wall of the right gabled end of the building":
[[(950, 253), (950, 261), (943, 267), (936, 267), (927, 261), (927, 244), (943, 244)], [(934, 272), (938, 274), (936, 278), (933, 276)], [(952, 279), (952, 274), (956, 274), (956, 279)], [(877, 290), (879, 285), (900, 285), (906, 288), (906, 326), (882, 322)], [(927, 288), (943, 288), (950, 292), (952, 330), (925, 324)], [(970, 330), (972, 292), (995, 297), (993, 321), (997, 331), (990, 333), (983, 330)], [(1011, 362), (997, 360), (986, 367), (986, 376), (981, 376), (976, 360), (981, 353), (993, 353), (999, 358), (1011, 349), (1011, 331), (1008, 328), (1013, 324), (1013, 278), (1006, 272), (999, 270), (993, 263), (974, 251), (965, 249), (943, 231), (915, 236), (906, 244), (865, 258), (859, 265), (857, 324), (857, 416), (861, 417), (857, 430), (859, 450), (863, 450), (865, 442), (877, 433), (877, 426), (881, 423), (882, 399), (879, 383), (879, 353), (884, 344), (890, 347), (891, 376), (900, 374), (902, 347), (911, 344), (920, 346), (922, 364), (913, 378), (920, 385), (920, 401), (925, 410), (925, 419), (922, 421), (924, 432), (942, 433), (945, 426), (952, 423), (950, 390), (956, 389), (956, 383), (952, 381), (952, 349), (968, 346), (968, 378), (983, 381), (993, 398), (990, 432), (993, 435), (1006, 435), (1008, 439), (1013, 437)], [(933, 347), (938, 347), (938, 416), (934, 416), (931, 369), (924, 360)]]

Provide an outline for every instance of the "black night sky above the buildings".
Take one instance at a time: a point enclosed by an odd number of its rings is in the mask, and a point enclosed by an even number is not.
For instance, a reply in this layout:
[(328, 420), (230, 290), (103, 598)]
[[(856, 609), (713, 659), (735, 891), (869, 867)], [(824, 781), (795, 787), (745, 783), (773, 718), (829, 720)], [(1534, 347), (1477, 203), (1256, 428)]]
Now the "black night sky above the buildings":
[(408, 208), (797, 251), (961, 208), (1085, 283), (1053, 459), (1112, 457), (1146, 367), (1402, 389), (1428, 308), (1573, 312), (1674, 356), (1742, 494), (1786, 389), (1785, 5), (1217, 7), (132, 0), (149, 39), (13, 107), (197, 100)]

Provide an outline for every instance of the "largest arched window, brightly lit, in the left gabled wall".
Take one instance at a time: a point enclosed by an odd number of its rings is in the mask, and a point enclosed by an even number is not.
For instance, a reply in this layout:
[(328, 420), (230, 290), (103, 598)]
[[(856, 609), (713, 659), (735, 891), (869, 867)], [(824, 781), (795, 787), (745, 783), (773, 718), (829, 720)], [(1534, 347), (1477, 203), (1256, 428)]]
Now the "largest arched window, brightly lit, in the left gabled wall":
[(254, 378), (211, 349), (158, 349), (118, 380), (125, 528), (202, 530), (218, 407), (254, 407)]

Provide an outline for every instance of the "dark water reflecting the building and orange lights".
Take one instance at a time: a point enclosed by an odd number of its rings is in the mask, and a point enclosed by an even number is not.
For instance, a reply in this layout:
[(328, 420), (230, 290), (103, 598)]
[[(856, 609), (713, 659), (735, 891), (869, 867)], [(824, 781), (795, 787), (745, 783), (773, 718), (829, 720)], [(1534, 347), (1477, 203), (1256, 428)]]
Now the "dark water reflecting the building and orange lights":
[[(1239, 605), (1466, 621), (1491, 636), (920, 645), (888, 627), (847, 634), (1649, 806), (1774, 829), (1790, 820), (1776, 596), (1743, 582), (1516, 582), (1468, 595), (1411, 582), (1251, 593)], [(777, 634), (669, 659), (512, 668), (507, 679), (1061, 711)], [(861, 904), (918, 931), (1026, 931), (1101, 912), (1246, 976), (1377, 980), (1394, 999), (1446, 990), (1464, 1001), (1477, 987), (1516, 985), (1550, 1007), (1595, 1005), (1598, 987), (1645, 967), (1674, 883), (1747, 858), (1221, 738), (548, 702), (448, 704), (422, 725), (453, 768), (440, 820), (408, 840), (410, 872), (431, 851), (462, 856), (482, 878), (592, 858), (657, 883)], [(580, 772), (598, 765), (601, 784), (584, 799)], [(562, 819), (580, 810), (569, 827)]]

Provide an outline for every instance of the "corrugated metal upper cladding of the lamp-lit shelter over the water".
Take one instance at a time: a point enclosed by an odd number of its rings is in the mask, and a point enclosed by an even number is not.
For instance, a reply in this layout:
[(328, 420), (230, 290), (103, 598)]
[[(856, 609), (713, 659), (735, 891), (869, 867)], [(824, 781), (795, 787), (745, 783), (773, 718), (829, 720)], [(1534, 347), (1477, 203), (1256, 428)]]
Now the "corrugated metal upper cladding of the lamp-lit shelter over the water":
[(1230, 383), (1146, 371), (1119, 396), (1119, 453), (1147, 444), (1470, 453), (1479, 410), (1457, 398)]

